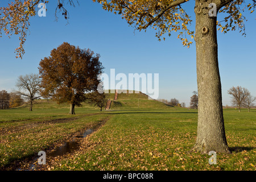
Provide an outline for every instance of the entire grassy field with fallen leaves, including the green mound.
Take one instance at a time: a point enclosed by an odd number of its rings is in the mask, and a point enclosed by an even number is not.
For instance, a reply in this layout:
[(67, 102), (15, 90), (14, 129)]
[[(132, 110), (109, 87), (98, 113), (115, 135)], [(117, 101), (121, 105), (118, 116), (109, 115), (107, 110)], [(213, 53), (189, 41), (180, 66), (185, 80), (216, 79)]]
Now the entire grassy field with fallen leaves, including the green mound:
[[(110, 96), (112, 98), (113, 96)], [(224, 109), (225, 129), (232, 154), (191, 152), (196, 140), (197, 110), (171, 107), (147, 100), (143, 94), (118, 97), (111, 110), (84, 104), (76, 115), (68, 105), (40, 101), (34, 111), (26, 106), (0, 110), (0, 167), (48, 151), (76, 133), (101, 121), (105, 125), (80, 140), (72, 154), (47, 159), (42, 170), (255, 170), (256, 110)], [(47, 155), (47, 152), (46, 152)], [(25, 164), (24, 164), (25, 165)]]

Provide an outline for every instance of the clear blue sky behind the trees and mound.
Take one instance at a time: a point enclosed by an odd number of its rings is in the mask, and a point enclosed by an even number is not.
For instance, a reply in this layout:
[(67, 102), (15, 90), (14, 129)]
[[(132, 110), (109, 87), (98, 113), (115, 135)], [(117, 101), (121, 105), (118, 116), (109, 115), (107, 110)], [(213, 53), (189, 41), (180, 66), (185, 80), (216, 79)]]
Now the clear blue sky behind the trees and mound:
[[(18, 36), (0, 39), (0, 90), (15, 89), (18, 76), (38, 73), (41, 59), (63, 42), (80, 48), (90, 48), (100, 53), (104, 72), (115, 73), (159, 73), (159, 98), (177, 98), (189, 106), (192, 92), (197, 90), (196, 49), (183, 47), (177, 35), (159, 42), (155, 31), (134, 31), (121, 16), (102, 10), (98, 3), (80, 1), (76, 8), (67, 6), (69, 24), (59, 15), (55, 21), (57, 1), (47, 5), (47, 16), (31, 19), (30, 34), (25, 43), (23, 59), (16, 59), (15, 48), (19, 47)], [(194, 1), (183, 6), (192, 16), (191, 29), (195, 29)], [(0, 2), (3, 6), (3, 2)], [(255, 13), (247, 16), (246, 37), (238, 31), (222, 34), (218, 32), (218, 60), (224, 105), (230, 105), (227, 90), (242, 86), (256, 96), (256, 20)], [(221, 19), (219, 19), (221, 20)], [(193, 40), (192, 40), (193, 41)]]

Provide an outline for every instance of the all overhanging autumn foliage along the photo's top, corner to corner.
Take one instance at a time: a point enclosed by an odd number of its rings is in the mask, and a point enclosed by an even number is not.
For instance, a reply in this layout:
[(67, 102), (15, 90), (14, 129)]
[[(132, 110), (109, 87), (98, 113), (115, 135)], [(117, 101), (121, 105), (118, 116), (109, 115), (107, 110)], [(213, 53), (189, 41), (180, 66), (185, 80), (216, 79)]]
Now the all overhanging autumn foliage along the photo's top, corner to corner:
[[(165, 40), (166, 35), (171, 36), (172, 32), (177, 32), (179, 38), (184, 46), (189, 47), (193, 42), (189, 40), (195, 37), (195, 32), (189, 30), (189, 24), (192, 19), (182, 5), (189, 0), (93, 0), (102, 4), (103, 9), (113, 11), (114, 14), (120, 14), (123, 19), (127, 20), (130, 26), (136, 30), (145, 30), (152, 27), (156, 30), (156, 37), (158, 40)], [(7, 36), (19, 35), (20, 45), (16, 48), (16, 57), (22, 57), (25, 53), (23, 48), (26, 42), (27, 31), (30, 26), (30, 19), (36, 16), (36, 6), (38, 3), (48, 3), (49, 1), (42, 0), (14, 0), (8, 3), (6, 7), (0, 7), (0, 37), (3, 33)], [(57, 13), (69, 18), (69, 13), (65, 6), (79, 5), (79, 1), (73, 0), (58, 0), (55, 10)], [(213, 0), (209, 3), (216, 4), (216, 11), (218, 13), (225, 13), (223, 20), (217, 22), (218, 30), (221, 32), (228, 32), (230, 30), (239, 30), (242, 35), (245, 35), (245, 10), (250, 13), (254, 12), (256, 1), (245, 0)], [(208, 3), (208, 5), (209, 5)], [(195, 6), (195, 12), (205, 10), (206, 13), (212, 10), (212, 7), (205, 9), (203, 2), (199, 6)], [(188, 37), (187, 37), (188, 36)]]

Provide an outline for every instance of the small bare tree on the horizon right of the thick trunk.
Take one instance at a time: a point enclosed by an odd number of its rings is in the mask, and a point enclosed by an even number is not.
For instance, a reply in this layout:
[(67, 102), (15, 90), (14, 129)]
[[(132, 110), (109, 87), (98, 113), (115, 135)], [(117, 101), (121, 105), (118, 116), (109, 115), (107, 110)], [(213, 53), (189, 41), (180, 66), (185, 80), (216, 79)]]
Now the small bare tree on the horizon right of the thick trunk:
[(232, 104), (237, 106), (241, 112), (241, 106), (244, 104), (246, 97), (250, 96), (249, 90), (241, 86), (232, 87), (228, 90), (228, 94), (232, 96)]

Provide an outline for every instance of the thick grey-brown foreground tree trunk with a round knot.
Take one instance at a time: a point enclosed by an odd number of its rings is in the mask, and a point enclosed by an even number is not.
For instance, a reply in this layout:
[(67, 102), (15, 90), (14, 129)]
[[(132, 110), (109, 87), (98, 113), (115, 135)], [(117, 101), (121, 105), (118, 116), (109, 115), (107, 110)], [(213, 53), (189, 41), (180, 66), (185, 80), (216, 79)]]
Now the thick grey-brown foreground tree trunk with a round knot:
[(229, 152), (222, 111), (218, 69), (216, 16), (209, 17), (209, 3), (196, 0), (196, 69), (198, 88), (197, 138), (193, 150)]

